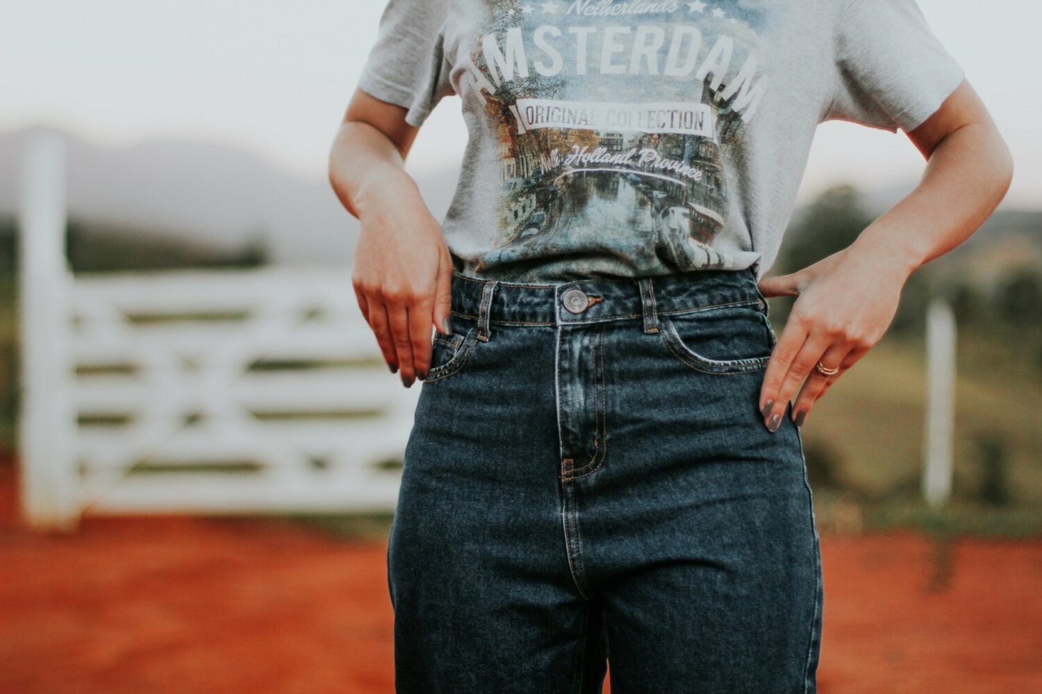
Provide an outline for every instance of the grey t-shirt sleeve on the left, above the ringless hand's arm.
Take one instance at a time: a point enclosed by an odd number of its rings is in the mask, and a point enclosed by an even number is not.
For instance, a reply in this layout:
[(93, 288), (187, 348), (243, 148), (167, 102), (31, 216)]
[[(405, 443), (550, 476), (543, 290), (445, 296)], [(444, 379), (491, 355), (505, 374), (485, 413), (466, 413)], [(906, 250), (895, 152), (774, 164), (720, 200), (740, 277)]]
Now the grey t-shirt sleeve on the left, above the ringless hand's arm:
[(358, 79), (363, 92), (407, 109), (405, 121), (416, 127), (453, 94), (444, 50), (447, 7), (447, 0), (389, 0)]

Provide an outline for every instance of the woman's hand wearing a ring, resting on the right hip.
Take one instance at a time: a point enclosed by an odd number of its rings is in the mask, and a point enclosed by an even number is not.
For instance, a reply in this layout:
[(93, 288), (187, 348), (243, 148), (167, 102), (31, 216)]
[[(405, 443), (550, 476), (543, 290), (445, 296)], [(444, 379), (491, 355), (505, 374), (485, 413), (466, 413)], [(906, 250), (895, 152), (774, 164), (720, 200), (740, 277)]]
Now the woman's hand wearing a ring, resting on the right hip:
[[(760, 412), (769, 431), (782, 426), (797, 388), (792, 418), (802, 426), (814, 403), (882, 339), (897, 313), (909, 273), (897, 258), (849, 247), (799, 272), (760, 281), (765, 297), (798, 297), (760, 391)], [(839, 370), (826, 376), (816, 368), (818, 362), (826, 370)]]

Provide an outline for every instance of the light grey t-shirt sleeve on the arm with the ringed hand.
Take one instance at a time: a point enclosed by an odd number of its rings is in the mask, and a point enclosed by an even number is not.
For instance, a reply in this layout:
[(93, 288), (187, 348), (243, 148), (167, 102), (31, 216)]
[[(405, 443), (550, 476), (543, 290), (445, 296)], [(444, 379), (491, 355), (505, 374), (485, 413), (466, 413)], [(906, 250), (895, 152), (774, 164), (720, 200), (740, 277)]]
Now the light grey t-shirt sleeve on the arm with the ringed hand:
[(965, 76), (916, 0), (841, 0), (833, 46), (832, 102), (822, 121), (908, 132)]

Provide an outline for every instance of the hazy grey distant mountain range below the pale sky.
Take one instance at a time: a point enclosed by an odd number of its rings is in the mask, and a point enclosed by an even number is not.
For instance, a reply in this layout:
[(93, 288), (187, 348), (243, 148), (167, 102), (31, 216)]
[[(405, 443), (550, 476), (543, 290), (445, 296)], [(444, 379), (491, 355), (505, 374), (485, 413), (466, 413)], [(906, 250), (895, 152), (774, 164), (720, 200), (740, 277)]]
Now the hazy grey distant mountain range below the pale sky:
[[(53, 131), (38, 127), (0, 135), (0, 216), (16, 211), (19, 153), (41, 130)], [(102, 148), (59, 134), (68, 144), (73, 217), (224, 251), (260, 242), (274, 262), (350, 260), (358, 223), (337, 200), (325, 171), (316, 172), (314, 179), (293, 177), (249, 152), (221, 145), (165, 140)], [(452, 200), (456, 175), (447, 169), (417, 177), (439, 220)], [(867, 190), (863, 201), (878, 215), (912, 187)], [(801, 209), (794, 211), (794, 220)], [(971, 253), (979, 243), (1009, 237), (1042, 249), (1042, 211), (1000, 207), (953, 253)]]

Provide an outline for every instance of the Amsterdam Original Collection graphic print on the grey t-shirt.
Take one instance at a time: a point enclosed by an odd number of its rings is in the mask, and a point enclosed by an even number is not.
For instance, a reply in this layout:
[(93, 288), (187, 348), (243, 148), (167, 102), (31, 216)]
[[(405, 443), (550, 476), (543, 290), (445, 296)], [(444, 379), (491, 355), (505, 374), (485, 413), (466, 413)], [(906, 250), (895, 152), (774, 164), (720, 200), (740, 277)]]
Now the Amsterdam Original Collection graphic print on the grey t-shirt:
[(720, 267), (721, 150), (767, 88), (767, 0), (501, 0), (474, 37), (474, 91), (498, 127), (495, 248), (522, 277)]

